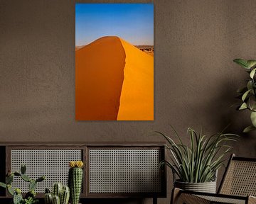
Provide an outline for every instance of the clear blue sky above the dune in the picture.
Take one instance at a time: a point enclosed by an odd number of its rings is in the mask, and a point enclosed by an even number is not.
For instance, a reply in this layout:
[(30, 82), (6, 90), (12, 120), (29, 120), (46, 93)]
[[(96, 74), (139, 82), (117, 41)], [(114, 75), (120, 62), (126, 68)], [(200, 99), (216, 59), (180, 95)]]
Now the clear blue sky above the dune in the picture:
[(106, 35), (154, 45), (154, 4), (75, 4), (75, 45)]

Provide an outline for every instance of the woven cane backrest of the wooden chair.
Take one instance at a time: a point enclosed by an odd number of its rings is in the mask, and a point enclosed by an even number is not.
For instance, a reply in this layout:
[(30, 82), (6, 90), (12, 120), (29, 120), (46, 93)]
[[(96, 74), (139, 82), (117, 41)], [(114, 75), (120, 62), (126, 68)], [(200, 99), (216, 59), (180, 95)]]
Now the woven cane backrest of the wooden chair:
[(234, 196), (256, 196), (256, 159), (232, 154), (218, 193)]

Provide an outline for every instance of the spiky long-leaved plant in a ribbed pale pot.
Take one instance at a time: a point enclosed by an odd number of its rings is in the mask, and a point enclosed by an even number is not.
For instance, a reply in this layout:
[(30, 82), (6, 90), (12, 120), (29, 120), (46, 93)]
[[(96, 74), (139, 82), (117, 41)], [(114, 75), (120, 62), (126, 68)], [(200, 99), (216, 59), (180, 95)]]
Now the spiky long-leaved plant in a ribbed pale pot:
[(166, 148), (171, 153), (170, 160), (162, 161), (161, 165), (165, 164), (173, 171), (174, 187), (215, 193), (217, 171), (224, 165), (225, 155), (232, 149), (226, 143), (235, 141), (238, 135), (220, 132), (207, 137), (201, 131), (197, 133), (192, 128), (188, 128), (190, 144), (185, 145), (175, 130), (174, 135), (178, 142), (174, 142), (162, 132), (156, 133), (167, 141)]

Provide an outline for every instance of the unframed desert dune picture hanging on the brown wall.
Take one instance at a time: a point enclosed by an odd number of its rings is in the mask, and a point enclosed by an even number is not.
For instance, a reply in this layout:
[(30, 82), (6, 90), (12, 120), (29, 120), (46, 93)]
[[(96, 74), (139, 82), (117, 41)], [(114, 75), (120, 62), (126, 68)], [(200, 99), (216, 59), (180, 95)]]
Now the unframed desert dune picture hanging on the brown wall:
[(154, 120), (154, 4), (75, 4), (75, 119)]

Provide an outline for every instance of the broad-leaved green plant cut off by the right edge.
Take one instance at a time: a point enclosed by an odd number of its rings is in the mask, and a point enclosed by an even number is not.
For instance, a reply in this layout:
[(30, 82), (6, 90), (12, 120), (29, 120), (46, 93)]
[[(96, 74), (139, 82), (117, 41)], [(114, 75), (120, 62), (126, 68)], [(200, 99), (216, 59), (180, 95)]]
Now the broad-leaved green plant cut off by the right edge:
[(243, 132), (250, 132), (251, 130), (256, 130), (256, 60), (235, 59), (233, 62), (245, 68), (246, 72), (249, 74), (245, 86), (242, 87), (242, 89), (238, 89), (238, 97), (241, 99), (241, 103), (237, 109), (239, 111), (250, 111), (252, 125), (243, 130)]

